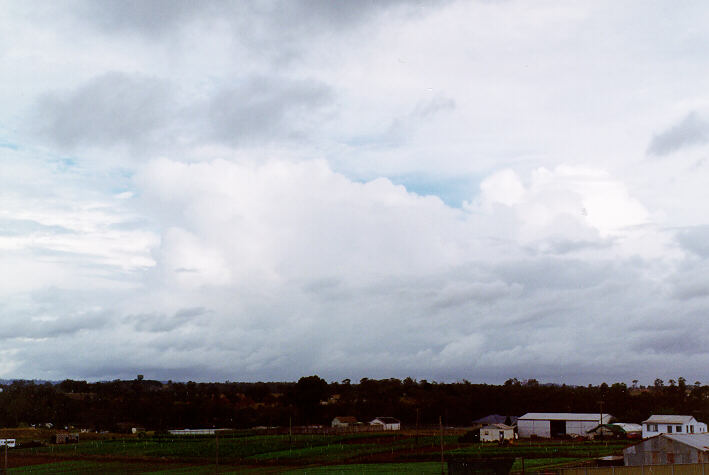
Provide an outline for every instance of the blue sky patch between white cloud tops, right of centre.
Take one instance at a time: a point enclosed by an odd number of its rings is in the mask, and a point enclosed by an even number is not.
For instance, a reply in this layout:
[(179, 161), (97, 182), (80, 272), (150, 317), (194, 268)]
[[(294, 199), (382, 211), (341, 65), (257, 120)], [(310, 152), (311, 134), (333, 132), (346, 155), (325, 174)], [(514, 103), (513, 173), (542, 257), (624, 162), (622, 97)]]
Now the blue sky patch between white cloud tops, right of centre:
[(388, 177), (392, 183), (403, 185), (412, 193), (422, 196), (437, 196), (445, 204), (460, 208), (464, 201), (470, 201), (480, 189), (480, 177), (431, 177), (424, 175), (404, 175)]

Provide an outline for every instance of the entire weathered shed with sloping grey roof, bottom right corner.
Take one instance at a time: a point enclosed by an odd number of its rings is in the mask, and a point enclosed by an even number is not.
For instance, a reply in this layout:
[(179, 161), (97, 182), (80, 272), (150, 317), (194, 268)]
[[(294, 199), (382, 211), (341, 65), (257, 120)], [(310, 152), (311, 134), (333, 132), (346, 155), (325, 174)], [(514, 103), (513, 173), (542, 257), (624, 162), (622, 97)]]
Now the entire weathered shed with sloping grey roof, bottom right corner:
[(709, 434), (660, 434), (623, 450), (625, 465), (709, 462)]

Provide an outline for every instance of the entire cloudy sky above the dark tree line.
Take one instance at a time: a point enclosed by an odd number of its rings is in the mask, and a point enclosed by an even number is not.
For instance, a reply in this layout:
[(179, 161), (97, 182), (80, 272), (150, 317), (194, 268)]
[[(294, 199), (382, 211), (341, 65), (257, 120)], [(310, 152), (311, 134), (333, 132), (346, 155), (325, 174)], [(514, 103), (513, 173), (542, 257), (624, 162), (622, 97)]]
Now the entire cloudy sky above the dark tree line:
[(0, 2), (0, 377), (709, 383), (709, 6)]

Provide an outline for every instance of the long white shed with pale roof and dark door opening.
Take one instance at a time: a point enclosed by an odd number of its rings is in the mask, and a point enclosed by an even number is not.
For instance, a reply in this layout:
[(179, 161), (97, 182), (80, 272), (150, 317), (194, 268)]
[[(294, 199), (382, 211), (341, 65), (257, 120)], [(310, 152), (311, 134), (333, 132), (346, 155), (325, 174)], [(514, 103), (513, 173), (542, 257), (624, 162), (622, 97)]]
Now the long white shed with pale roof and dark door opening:
[(570, 412), (528, 412), (517, 419), (520, 437), (587, 436), (599, 424), (608, 424), (610, 414), (576, 414)]

